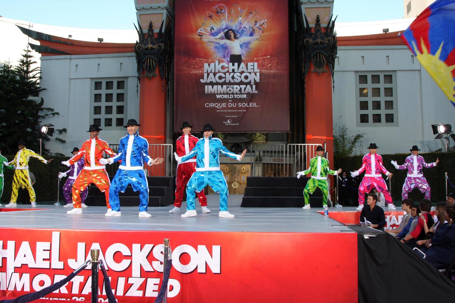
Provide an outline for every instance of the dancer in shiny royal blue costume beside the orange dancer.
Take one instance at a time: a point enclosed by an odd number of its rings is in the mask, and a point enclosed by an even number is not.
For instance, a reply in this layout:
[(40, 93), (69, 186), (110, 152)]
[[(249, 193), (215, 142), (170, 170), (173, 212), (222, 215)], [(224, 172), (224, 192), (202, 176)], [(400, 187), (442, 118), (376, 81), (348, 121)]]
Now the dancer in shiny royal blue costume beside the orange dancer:
[(101, 159), (101, 164), (112, 164), (121, 159), (121, 165), (112, 180), (109, 189), (109, 202), (112, 211), (106, 213), (106, 217), (120, 217), (120, 201), (118, 198), (119, 192), (125, 192), (126, 186), (131, 184), (134, 191), (139, 190), (139, 217), (152, 217), (147, 213), (148, 205), (148, 183), (144, 172), (144, 161), (148, 165), (161, 164), (164, 159), (157, 158), (153, 160), (148, 155), (147, 139), (141, 137), (137, 129), (141, 124), (137, 124), (135, 119), (129, 119), (126, 126), (128, 134), (120, 139), (117, 154), (109, 159)]

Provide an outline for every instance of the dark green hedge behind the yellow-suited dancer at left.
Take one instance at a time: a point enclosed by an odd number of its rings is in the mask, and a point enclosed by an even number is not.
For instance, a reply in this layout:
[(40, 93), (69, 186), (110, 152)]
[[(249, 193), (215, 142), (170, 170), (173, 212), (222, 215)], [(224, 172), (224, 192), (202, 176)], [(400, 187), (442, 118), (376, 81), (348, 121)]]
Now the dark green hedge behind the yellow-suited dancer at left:
[[(14, 156), (6, 156), (8, 161), (11, 161)], [(54, 159), (49, 164), (44, 164), (36, 158), (31, 158), (29, 161), (29, 169), (35, 175), (36, 183), (33, 185), (36, 194), (36, 201), (56, 201), (57, 200), (57, 186), (58, 186), (58, 173), (65, 172), (69, 168), (61, 164), (61, 161), (70, 159), (69, 157), (50, 157), (43, 156), (45, 159)], [(7, 204), (11, 198), (11, 184), (13, 183), (14, 170), (4, 170), (4, 187), (1, 203)], [(61, 183), (65, 183), (66, 178), (61, 179)], [(60, 197), (63, 200), (63, 197)], [(30, 201), (27, 190), (19, 189), (18, 203)]]

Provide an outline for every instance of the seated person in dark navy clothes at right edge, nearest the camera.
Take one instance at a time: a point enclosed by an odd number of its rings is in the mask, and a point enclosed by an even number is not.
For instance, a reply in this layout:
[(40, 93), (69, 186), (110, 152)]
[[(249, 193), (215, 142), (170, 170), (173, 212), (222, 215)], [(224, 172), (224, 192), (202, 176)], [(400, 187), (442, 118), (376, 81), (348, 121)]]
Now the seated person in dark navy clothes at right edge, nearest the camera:
[(447, 205), (445, 220), (447, 223), (435, 231), (433, 238), (425, 240), (426, 247), (421, 249), (426, 254), (425, 260), (438, 269), (444, 268), (455, 256), (455, 205)]

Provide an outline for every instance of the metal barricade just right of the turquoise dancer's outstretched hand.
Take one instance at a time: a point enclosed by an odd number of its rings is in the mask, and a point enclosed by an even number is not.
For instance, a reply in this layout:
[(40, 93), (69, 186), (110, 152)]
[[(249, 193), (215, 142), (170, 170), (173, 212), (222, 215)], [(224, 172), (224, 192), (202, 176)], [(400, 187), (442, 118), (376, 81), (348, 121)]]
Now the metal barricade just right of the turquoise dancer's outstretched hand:
[(285, 144), (251, 144), (250, 149), (253, 177), (285, 176)]

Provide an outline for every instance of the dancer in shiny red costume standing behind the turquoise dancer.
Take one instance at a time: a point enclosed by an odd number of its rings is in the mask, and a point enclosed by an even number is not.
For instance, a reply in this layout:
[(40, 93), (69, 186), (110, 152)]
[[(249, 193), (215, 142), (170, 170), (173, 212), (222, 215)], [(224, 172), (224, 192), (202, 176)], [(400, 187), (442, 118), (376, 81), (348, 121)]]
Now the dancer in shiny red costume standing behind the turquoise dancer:
[[(182, 123), (181, 130), (183, 131), (182, 136), (177, 139), (176, 142), (176, 153), (179, 157), (182, 157), (188, 154), (196, 145), (199, 140), (197, 137), (193, 136), (190, 131), (193, 126), (188, 122)], [(175, 189), (175, 201), (174, 208), (169, 211), (171, 214), (180, 213), (180, 207), (182, 206), (183, 191), (185, 186), (187, 186), (188, 181), (190, 180), (192, 174), (196, 171), (196, 157), (189, 159), (185, 162), (178, 162), (177, 164), (177, 177), (175, 180), (177, 188)], [(199, 199), (199, 204), (202, 207), (202, 213), (210, 213), (210, 209), (207, 209), (207, 197), (204, 194), (204, 190), (200, 191), (197, 194)]]

